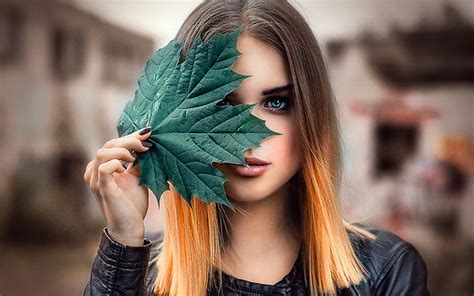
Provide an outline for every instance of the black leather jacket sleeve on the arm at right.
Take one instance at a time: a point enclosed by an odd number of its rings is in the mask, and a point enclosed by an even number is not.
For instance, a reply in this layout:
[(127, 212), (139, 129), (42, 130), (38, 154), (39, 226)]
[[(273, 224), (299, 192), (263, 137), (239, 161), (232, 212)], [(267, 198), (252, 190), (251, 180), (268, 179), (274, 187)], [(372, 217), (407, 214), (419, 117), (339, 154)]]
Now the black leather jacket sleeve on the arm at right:
[(431, 295), (426, 264), (415, 247), (403, 248), (389, 260), (378, 277), (375, 295)]

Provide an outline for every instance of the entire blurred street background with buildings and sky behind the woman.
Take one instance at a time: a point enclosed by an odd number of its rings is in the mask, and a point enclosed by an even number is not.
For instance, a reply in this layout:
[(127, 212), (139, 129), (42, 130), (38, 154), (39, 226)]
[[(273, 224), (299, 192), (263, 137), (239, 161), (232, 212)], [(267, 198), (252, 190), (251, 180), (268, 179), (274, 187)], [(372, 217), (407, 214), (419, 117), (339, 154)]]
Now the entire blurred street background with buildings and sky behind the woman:
[[(433, 295), (472, 295), (474, 2), (291, 2), (338, 100), (346, 218), (412, 242)], [(85, 166), (198, 3), (0, 0), (0, 295), (82, 295), (104, 227)]]

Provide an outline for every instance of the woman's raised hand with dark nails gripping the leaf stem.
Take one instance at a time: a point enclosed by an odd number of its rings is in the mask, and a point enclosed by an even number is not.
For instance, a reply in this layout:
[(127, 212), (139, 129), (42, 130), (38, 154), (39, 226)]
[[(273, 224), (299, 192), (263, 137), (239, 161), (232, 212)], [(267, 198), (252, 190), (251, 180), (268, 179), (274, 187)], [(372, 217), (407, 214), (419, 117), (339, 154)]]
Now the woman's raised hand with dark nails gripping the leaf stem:
[[(140, 131), (146, 132), (140, 135)], [(148, 210), (148, 188), (139, 185), (140, 167), (124, 168), (122, 161), (132, 163), (132, 154), (146, 152), (151, 129), (141, 129), (129, 135), (107, 141), (97, 150), (84, 173), (107, 224), (109, 235), (128, 246), (143, 246), (144, 218)]]

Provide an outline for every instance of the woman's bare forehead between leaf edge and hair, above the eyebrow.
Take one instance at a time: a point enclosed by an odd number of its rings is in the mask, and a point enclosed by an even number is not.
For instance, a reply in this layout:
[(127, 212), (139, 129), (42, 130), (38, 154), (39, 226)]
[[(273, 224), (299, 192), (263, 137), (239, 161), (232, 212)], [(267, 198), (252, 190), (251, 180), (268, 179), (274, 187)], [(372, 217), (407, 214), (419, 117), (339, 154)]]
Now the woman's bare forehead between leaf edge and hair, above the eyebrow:
[(262, 94), (264, 90), (288, 85), (290, 82), (287, 62), (284, 56), (271, 45), (242, 33), (237, 40), (241, 53), (233, 70), (246, 78), (234, 91), (243, 97)]

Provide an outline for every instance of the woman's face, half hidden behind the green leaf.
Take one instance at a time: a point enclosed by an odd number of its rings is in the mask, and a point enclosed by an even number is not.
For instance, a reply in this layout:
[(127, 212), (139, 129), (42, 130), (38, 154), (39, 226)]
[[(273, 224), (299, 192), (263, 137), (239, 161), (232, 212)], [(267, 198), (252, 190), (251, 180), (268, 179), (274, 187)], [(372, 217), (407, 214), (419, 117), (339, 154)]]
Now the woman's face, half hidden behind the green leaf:
[(281, 189), (300, 168), (291, 91), (268, 93), (269, 90), (288, 86), (290, 77), (284, 57), (270, 45), (242, 33), (237, 48), (242, 54), (233, 70), (253, 76), (244, 79), (234, 92), (227, 95), (224, 103), (257, 103), (252, 114), (264, 120), (269, 129), (282, 135), (270, 136), (259, 147), (245, 151), (244, 157), (258, 157), (270, 163), (261, 175), (250, 177), (241, 174), (236, 171), (238, 165), (235, 164), (213, 165), (229, 179), (224, 187), (231, 201), (258, 201)]

